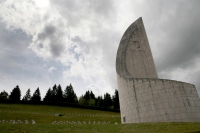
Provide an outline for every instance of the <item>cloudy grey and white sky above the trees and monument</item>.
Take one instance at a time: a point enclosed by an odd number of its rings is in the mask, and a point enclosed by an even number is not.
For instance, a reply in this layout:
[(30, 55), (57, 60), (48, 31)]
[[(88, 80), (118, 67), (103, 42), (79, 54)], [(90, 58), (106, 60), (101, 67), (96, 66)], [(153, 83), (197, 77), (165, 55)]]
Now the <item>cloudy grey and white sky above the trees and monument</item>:
[(159, 78), (200, 94), (199, 0), (0, 0), (0, 91), (72, 83), (78, 96), (117, 89), (115, 59), (127, 27), (143, 18)]

